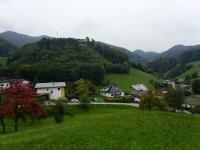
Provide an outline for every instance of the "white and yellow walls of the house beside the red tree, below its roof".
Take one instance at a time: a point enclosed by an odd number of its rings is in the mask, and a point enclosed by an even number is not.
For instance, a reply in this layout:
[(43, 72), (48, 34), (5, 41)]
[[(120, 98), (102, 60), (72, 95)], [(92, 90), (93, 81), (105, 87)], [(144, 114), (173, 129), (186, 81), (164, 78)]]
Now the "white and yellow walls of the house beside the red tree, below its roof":
[(58, 100), (59, 98), (65, 97), (64, 87), (56, 88), (39, 88), (37, 89), (37, 94), (49, 94), (49, 99)]

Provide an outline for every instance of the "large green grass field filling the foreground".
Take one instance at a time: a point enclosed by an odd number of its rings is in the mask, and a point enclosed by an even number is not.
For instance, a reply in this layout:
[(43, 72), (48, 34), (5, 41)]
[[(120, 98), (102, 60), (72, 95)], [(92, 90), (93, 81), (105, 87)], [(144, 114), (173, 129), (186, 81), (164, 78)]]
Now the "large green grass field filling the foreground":
[(9, 132), (0, 135), (1, 150), (200, 149), (199, 116), (129, 106), (92, 106), (86, 112), (77, 109), (62, 124), (49, 117), (34, 127), (21, 124), (18, 133)]

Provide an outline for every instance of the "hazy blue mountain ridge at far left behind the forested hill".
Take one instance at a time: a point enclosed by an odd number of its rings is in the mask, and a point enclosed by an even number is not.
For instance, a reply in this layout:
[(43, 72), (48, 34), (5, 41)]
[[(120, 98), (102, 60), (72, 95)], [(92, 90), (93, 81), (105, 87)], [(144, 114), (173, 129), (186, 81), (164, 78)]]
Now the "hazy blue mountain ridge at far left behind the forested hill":
[(13, 31), (6, 31), (3, 33), (0, 33), (0, 38), (7, 40), (12, 45), (16, 46), (17, 48), (23, 47), (26, 44), (30, 44), (36, 41), (41, 40), (42, 38), (50, 38), (48, 36), (42, 35), (42, 36), (29, 36), (25, 34), (16, 33)]

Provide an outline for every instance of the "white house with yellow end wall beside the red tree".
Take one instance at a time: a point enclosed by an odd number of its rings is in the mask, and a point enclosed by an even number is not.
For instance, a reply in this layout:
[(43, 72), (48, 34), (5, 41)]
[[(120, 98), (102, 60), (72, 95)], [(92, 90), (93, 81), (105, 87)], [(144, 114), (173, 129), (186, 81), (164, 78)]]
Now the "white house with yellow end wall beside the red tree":
[(37, 83), (35, 89), (38, 95), (48, 95), (51, 100), (65, 98), (65, 82)]

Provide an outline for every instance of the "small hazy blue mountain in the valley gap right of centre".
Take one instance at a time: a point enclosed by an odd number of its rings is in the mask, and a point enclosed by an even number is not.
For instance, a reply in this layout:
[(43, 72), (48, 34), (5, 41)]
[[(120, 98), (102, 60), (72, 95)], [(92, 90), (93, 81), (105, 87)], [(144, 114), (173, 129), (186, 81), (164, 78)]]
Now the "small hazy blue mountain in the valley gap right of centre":
[(160, 53), (156, 52), (144, 52), (143, 50), (137, 49), (133, 53), (139, 55), (141, 58), (147, 62), (154, 61), (156, 58), (160, 57)]

